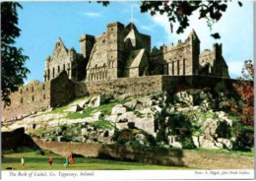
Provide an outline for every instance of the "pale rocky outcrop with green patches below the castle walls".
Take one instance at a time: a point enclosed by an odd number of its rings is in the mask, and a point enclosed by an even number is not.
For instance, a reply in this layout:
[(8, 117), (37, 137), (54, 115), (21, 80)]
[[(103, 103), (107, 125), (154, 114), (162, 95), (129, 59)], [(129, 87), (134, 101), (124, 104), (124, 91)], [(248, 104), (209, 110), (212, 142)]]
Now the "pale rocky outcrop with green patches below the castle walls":
[[(26, 130), (32, 130), (35, 124), (35, 131), (57, 127), (39, 137), (58, 142), (143, 146), (156, 142), (166, 148), (214, 150), (233, 147), (232, 120), (224, 111), (216, 111), (219, 104), (209, 91), (180, 91), (168, 97), (160, 92), (130, 99), (120, 103), (103, 94), (87, 97), (68, 106), (69, 113), (35, 114), (9, 127), (25, 125)], [(107, 107), (109, 100), (112, 107)], [(81, 115), (87, 113), (86, 117), (65, 117), (77, 111)]]

